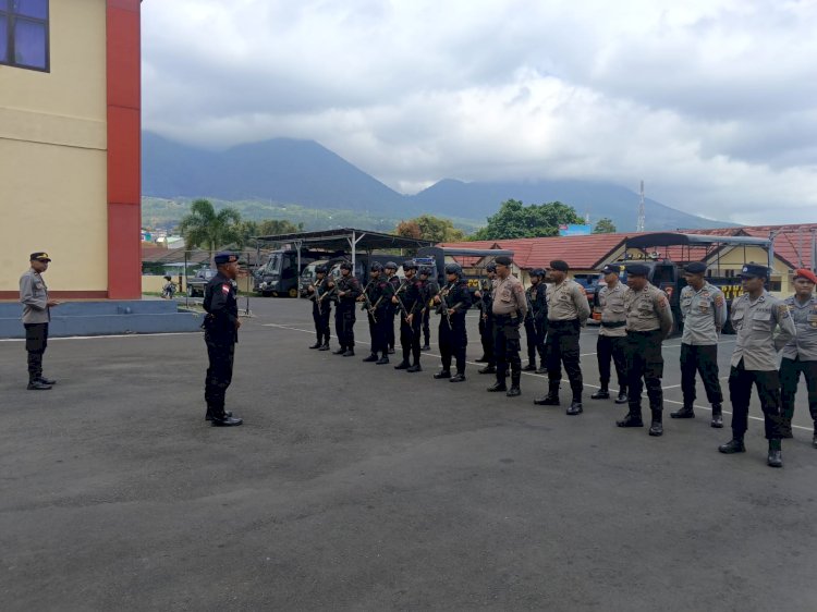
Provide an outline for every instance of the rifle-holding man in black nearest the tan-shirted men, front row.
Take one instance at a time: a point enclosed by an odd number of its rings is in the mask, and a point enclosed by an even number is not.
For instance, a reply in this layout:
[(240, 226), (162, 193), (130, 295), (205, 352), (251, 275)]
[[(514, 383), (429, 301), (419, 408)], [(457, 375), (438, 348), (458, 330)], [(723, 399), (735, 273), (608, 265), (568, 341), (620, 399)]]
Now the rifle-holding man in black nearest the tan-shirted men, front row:
[[(446, 265), (447, 284), (435, 295), (434, 303), (440, 315), (439, 343), (442, 369), (435, 378), (448, 378), (449, 382), (465, 380), (465, 347), (468, 335), (465, 331), (465, 313), (471, 307), (468, 283), (462, 278), (458, 264)], [(456, 374), (451, 376), (451, 359), (455, 359)]]

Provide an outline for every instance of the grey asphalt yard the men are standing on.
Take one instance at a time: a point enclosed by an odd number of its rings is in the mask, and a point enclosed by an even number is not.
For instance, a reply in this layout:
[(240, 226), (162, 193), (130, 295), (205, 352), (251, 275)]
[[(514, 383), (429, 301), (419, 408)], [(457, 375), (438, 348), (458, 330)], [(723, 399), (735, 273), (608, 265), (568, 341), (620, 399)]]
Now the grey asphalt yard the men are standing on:
[(423, 372), (362, 363), (363, 317), (344, 358), (307, 350), (305, 301), (251, 309), (236, 428), (204, 420), (198, 333), (52, 340), (45, 392), (25, 390), (24, 344), (0, 342), (1, 610), (817, 610), (804, 387), (772, 469), (756, 400), (742, 455), (717, 452), (730, 415), (709, 427), (700, 384), (698, 418), (669, 418), (678, 340), (650, 438), (589, 400), (593, 328), (569, 417), (566, 379), (561, 407), (533, 404), (540, 375), (485, 392), (475, 314), (452, 384), (431, 378), (436, 344)]

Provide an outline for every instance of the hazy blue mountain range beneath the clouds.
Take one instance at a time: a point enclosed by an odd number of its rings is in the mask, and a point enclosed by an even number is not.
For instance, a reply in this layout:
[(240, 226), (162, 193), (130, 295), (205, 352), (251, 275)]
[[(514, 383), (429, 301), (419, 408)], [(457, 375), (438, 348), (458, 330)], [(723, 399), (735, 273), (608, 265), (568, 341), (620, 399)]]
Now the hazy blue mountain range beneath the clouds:
[[(429, 212), (485, 222), (507, 199), (559, 200), (581, 216), (588, 215), (592, 223), (607, 217), (619, 231), (633, 231), (638, 210), (635, 192), (580, 180), (465, 183), (443, 179), (415, 195), (403, 195), (320, 144), (291, 138), (212, 151), (143, 132), (142, 172), (144, 196), (275, 201), (397, 218)], [(730, 225), (653, 199), (645, 199), (645, 219), (646, 229), (654, 231)]]

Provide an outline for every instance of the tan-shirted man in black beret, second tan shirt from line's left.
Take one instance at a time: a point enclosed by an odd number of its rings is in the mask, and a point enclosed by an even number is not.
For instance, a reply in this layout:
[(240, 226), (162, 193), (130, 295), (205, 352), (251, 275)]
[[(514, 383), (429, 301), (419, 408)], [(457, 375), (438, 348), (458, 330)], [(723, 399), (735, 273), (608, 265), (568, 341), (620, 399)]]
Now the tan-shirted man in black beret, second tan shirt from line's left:
[(568, 408), (569, 415), (582, 414), (582, 367), (578, 363), (578, 333), (590, 316), (590, 305), (584, 289), (576, 281), (568, 279), (570, 267), (565, 261), (556, 259), (550, 262), (548, 285), (548, 394), (534, 400), (541, 406), (559, 405), (559, 383), (562, 380), (562, 363), (570, 379), (573, 400)]

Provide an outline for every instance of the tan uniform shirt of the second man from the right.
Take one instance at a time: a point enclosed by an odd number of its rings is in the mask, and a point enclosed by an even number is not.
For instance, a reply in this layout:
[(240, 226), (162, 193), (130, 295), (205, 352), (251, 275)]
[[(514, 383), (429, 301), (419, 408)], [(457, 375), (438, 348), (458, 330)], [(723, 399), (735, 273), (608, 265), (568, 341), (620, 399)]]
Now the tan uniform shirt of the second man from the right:
[(732, 327), (736, 341), (731, 364), (743, 359), (745, 369), (756, 371), (777, 370), (778, 351), (796, 334), (789, 307), (765, 290), (755, 302), (748, 293), (732, 302)]

